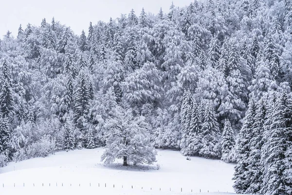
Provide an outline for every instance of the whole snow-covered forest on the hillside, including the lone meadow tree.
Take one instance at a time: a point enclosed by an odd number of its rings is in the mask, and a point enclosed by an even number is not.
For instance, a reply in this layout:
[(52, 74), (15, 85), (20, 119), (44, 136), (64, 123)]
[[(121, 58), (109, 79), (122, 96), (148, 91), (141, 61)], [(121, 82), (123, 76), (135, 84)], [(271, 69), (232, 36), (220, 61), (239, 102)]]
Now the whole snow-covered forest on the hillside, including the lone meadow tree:
[(164, 148), (237, 163), (237, 193), (292, 194), (292, 0), (135, 11), (0, 40), (0, 167), (102, 146), (105, 163), (152, 164)]

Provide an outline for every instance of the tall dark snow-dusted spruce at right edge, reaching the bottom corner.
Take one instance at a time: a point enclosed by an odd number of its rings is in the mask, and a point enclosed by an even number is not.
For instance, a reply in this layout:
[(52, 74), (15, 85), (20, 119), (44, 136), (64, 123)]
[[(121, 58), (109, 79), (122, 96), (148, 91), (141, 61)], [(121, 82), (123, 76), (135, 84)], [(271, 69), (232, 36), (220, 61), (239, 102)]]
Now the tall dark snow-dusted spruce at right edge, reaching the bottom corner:
[(285, 153), (292, 145), (291, 118), (292, 99), (283, 93), (276, 100), (272, 115), (270, 137), (266, 145), (268, 147), (266, 149), (268, 155), (260, 193), (284, 195), (287, 190), (291, 191), (291, 186), (285, 183), (285, 177), (283, 175), (287, 169), (285, 166)]

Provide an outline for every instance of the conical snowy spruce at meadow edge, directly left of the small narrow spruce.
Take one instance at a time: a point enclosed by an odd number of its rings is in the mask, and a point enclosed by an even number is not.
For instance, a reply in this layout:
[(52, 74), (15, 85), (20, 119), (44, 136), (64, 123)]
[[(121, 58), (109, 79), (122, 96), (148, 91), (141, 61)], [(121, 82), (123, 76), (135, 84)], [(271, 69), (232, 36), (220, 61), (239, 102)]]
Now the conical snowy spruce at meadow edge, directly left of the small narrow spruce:
[(207, 103), (204, 112), (204, 122), (202, 123), (202, 147), (200, 155), (206, 158), (219, 158), (220, 151), (220, 131), (217, 118), (215, 116), (213, 103)]

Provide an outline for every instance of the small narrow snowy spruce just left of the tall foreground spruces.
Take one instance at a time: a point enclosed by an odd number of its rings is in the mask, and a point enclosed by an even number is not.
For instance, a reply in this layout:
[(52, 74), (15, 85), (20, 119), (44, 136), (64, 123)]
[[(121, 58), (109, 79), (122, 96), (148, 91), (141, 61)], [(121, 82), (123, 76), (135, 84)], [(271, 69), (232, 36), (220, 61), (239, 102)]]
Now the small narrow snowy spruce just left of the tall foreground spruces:
[(229, 155), (231, 150), (235, 147), (235, 135), (231, 127), (231, 123), (228, 119), (225, 120), (224, 129), (222, 134), (222, 156), (221, 160), (224, 162), (229, 162)]

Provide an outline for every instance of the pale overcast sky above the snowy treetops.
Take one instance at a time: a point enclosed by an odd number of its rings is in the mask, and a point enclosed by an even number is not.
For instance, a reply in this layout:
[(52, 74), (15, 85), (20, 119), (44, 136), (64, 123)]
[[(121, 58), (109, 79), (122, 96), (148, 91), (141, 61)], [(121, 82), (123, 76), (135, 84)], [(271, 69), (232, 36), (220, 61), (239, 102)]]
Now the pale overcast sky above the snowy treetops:
[[(173, 0), (175, 6), (183, 7), (193, 0)], [(121, 13), (128, 14), (133, 8), (140, 15), (142, 7), (146, 12), (158, 14), (160, 7), (168, 12), (172, 0), (0, 0), (0, 37), (10, 30), (17, 35), (19, 24), (23, 29), (28, 23), (40, 25), (46, 18), (52, 18), (71, 26), (75, 34), (88, 29), (89, 22), (109, 21)]]

